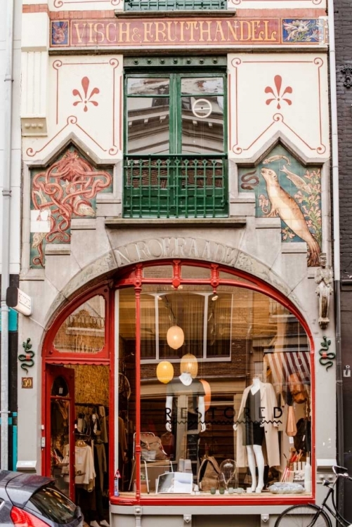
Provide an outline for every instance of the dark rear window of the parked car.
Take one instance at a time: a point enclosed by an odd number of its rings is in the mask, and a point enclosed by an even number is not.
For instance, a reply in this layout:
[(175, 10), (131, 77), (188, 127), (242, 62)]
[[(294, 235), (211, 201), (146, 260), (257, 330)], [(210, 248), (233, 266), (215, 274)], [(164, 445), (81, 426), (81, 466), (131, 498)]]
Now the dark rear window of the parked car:
[(77, 516), (77, 506), (51, 486), (37, 490), (26, 507), (57, 523), (70, 523)]

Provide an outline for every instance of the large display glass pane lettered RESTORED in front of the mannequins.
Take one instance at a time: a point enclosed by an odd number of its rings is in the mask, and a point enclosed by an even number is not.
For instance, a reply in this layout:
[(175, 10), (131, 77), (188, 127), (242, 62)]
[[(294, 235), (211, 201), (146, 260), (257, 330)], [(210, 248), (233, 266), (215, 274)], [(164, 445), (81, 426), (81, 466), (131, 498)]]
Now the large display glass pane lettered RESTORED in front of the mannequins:
[[(119, 339), (130, 352), (133, 302), (133, 290), (121, 292)], [(166, 474), (159, 478), (163, 492), (176, 494), (182, 481), (177, 476), (176, 487), (167, 487), (171, 469), (184, 480), (190, 474), (196, 484), (205, 454), (220, 467), (218, 474), (200, 472), (205, 498), (211, 489), (237, 497), (259, 488), (267, 492), (253, 496), (263, 500), (273, 497), (271, 483), (301, 481), (292, 449), (301, 462), (311, 454), (310, 350), (304, 328), (287, 308), (243, 287), (219, 286), (213, 299), (210, 285), (145, 285), (141, 335), (142, 493), (157, 493), (157, 479)], [(134, 451), (133, 434), (128, 448)], [(245, 453), (255, 452), (260, 461), (264, 450), (265, 469), (259, 462), (251, 472)], [(133, 466), (131, 471), (132, 488)]]

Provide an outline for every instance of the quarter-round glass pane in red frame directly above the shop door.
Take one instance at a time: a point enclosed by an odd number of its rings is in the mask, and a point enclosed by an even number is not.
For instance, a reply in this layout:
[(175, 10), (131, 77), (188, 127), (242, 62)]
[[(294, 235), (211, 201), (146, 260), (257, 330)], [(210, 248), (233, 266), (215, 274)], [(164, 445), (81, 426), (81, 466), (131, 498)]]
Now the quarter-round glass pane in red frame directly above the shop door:
[(105, 346), (105, 299), (96, 295), (68, 315), (54, 347), (61, 353), (98, 353)]

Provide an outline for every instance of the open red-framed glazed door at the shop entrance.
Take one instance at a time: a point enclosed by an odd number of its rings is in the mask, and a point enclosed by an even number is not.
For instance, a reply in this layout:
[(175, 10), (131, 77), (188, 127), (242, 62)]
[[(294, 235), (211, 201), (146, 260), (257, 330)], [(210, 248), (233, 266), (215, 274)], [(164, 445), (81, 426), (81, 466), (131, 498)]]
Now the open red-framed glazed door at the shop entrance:
[(46, 365), (46, 475), (74, 500), (74, 370)]

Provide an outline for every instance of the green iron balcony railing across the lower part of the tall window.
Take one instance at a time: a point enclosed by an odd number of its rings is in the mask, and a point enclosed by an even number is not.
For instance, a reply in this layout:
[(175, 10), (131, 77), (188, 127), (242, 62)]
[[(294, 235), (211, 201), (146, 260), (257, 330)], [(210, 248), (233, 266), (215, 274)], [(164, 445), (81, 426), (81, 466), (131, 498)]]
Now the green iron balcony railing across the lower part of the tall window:
[(125, 156), (125, 218), (226, 216), (226, 155)]

